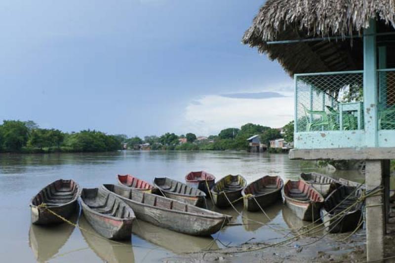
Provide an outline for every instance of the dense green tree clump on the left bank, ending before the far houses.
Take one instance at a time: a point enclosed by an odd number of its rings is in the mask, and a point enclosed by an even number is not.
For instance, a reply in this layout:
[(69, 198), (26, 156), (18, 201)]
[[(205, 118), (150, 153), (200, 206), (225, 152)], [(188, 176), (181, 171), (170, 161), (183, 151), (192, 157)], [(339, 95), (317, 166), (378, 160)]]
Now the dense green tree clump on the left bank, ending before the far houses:
[(4, 120), (0, 125), (0, 152), (113, 151), (122, 149), (124, 139), (95, 130), (42, 129), (31, 120)]

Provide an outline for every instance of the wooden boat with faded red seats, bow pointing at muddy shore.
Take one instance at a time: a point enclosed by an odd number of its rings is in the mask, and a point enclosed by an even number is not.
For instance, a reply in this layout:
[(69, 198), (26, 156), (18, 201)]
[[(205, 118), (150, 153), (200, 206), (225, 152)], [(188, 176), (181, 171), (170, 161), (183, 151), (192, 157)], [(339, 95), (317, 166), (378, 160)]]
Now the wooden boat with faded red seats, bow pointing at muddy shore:
[(316, 221), (320, 218), (319, 210), (324, 198), (306, 182), (289, 180), (282, 188), (282, 195), (285, 204), (298, 218), (305, 221)]

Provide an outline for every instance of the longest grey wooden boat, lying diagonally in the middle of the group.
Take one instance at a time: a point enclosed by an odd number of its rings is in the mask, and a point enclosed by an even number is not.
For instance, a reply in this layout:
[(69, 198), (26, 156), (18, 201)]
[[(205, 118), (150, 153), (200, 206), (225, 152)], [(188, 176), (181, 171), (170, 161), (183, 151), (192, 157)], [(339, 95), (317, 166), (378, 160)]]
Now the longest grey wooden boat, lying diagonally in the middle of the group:
[(137, 219), (186, 234), (199, 236), (214, 234), (231, 218), (133, 188), (115, 185), (103, 185), (102, 188), (125, 201), (133, 209)]

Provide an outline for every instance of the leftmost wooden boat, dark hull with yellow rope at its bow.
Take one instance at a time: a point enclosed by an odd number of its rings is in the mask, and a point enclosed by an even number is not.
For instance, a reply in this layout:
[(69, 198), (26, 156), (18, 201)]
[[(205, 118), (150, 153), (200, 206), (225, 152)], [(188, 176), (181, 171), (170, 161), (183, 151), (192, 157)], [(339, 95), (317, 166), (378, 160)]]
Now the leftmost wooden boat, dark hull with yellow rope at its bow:
[(76, 182), (62, 179), (42, 188), (30, 202), (32, 223), (48, 225), (64, 222), (50, 211), (69, 219), (74, 212), (77, 212), (79, 191)]

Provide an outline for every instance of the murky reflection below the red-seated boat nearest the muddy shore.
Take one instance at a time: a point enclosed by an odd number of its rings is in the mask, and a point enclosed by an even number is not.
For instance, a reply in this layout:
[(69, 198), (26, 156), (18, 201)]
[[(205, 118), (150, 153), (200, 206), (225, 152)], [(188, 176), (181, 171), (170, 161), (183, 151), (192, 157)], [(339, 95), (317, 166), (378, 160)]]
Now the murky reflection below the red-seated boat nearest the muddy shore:
[[(284, 222), (288, 225), (290, 229), (294, 229), (294, 233), (296, 234), (301, 234), (302, 232), (306, 232), (309, 229), (312, 229), (316, 227), (317, 225), (321, 224), (321, 221), (318, 221), (316, 223), (312, 223), (309, 221), (303, 221), (300, 218), (298, 218), (292, 210), (290, 210), (287, 206), (283, 206), (282, 208), (282, 218), (284, 219)], [(306, 232), (307, 236), (317, 236), (317, 235), (322, 235), (323, 234), (323, 226), (318, 226), (312, 230), (311, 233)]]

